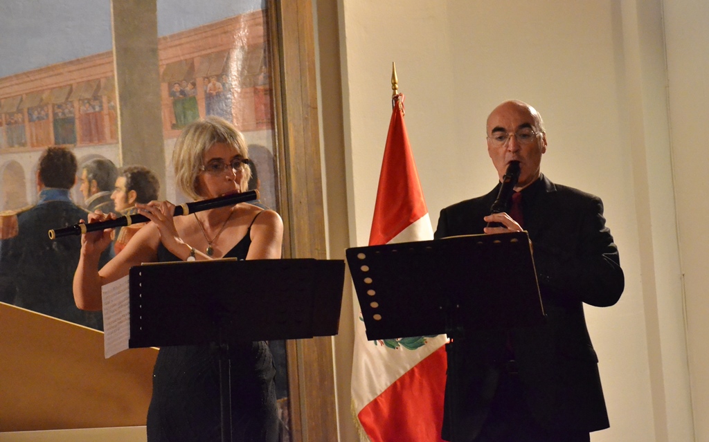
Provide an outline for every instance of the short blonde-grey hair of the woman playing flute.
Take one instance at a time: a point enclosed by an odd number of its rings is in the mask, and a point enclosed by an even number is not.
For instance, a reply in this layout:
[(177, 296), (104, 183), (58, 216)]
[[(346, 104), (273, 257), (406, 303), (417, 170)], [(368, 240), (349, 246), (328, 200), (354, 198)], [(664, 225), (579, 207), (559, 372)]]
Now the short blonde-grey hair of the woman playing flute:
[[(175, 185), (189, 198), (201, 199), (197, 193), (197, 176), (203, 166), (204, 153), (218, 142), (233, 147), (237, 154), (248, 158), (244, 135), (233, 124), (214, 115), (190, 123), (177, 137), (172, 151)], [(245, 167), (240, 183), (242, 191), (247, 190), (250, 176), (251, 169)]]

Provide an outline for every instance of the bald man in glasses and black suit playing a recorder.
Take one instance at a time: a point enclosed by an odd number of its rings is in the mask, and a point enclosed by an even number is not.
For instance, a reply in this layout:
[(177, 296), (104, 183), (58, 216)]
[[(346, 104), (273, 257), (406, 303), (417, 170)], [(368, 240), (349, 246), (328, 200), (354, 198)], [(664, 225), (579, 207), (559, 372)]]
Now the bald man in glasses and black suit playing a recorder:
[(589, 441), (591, 431), (609, 423), (583, 304), (614, 305), (625, 283), (603, 203), (541, 174), (547, 135), (526, 103), (495, 108), (487, 147), (501, 181), (510, 162), (520, 162), (512, 199), (521, 201), (491, 215), (498, 183), (485, 196), (443, 209), (435, 237), (526, 230), (547, 318), (540, 327), (469, 333), (449, 344), (443, 436), (454, 442)]

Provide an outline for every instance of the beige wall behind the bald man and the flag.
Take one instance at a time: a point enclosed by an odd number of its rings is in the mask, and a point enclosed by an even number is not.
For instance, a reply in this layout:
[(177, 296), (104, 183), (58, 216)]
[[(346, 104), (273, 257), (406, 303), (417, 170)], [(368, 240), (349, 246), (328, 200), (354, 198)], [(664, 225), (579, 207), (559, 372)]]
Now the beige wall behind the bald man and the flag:
[[(391, 62), (434, 225), (441, 208), (494, 185), (484, 123), (507, 98), (532, 103), (545, 118), (542, 171), (603, 198), (626, 288), (618, 305), (586, 308), (611, 421), (595, 442), (693, 441), (694, 426), (696, 441), (709, 440), (709, 424), (693, 422), (691, 408), (691, 397), (694, 416), (709, 408), (709, 378), (698, 368), (709, 362), (700, 344), (707, 302), (699, 299), (707, 207), (685, 196), (709, 190), (705, 149), (692, 149), (707, 131), (698, 98), (707, 95), (708, 6), (666, 3), (338, 0), (332, 17), (340, 23), (347, 178), (347, 190), (336, 192), (347, 199), (352, 246), (369, 237)], [(338, 172), (331, 166), (328, 176)], [(351, 339), (343, 329), (335, 344), (340, 384), (349, 380), (341, 355)], [(346, 391), (341, 385), (341, 440), (352, 441)]]

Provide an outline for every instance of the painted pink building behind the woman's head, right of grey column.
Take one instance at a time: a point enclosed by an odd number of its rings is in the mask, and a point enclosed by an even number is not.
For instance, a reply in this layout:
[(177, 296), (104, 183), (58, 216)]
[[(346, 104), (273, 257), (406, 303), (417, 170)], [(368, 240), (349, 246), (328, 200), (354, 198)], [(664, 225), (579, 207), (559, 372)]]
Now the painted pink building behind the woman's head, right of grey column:
[[(259, 203), (277, 209), (265, 11), (241, 14), (160, 39), (164, 138), (207, 115), (232, 121), (257, 152)], [(255, 169), (255, 170), (253, 170)], [(177, 196), (179, 200), (179, 196)]]

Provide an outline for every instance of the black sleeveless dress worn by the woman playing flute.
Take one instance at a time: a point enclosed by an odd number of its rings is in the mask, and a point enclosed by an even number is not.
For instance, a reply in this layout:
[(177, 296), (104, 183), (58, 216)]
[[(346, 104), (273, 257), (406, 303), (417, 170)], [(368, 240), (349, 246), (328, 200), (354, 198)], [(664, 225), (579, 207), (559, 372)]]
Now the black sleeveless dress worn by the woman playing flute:
[[(250, 231), (251, 227), (225, 258), (246, 258), (251, 245)], [(180, 261), (162, 244), (157, 258), (160, 262)], [(277, 441), (276, 370), (267, 344), (264, 341), (230, 344), (230, 353), (233, 441)], [(219, 358), (213, 348), (160, 348), (152, 373), (147, 440), (220, 441), (219, 397)]]

